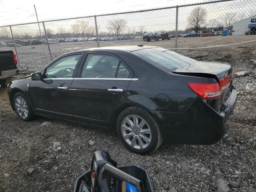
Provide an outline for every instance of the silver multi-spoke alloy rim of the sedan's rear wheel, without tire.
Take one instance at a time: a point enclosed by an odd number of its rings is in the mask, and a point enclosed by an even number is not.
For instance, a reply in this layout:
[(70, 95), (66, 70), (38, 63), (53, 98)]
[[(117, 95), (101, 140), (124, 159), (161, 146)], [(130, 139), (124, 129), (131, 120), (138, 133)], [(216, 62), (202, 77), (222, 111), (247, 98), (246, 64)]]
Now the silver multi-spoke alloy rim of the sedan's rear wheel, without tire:
[(145, 149), (152, 141), (150, 126), (138, 115), (126, 116), (122, 121), (121, 132), (126, 143), (135, 149)]

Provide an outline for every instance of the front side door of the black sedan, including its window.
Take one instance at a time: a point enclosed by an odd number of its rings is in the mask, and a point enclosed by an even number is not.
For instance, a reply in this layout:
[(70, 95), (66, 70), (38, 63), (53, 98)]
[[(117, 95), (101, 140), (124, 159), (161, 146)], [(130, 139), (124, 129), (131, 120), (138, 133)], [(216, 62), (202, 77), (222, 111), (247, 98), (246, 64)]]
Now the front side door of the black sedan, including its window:
[(42, 70), (42, 80), (31, 82), (28, 91), (36, 113), (73, 120), (70, 85), (80, 58), (81, 53), (63, 56)]

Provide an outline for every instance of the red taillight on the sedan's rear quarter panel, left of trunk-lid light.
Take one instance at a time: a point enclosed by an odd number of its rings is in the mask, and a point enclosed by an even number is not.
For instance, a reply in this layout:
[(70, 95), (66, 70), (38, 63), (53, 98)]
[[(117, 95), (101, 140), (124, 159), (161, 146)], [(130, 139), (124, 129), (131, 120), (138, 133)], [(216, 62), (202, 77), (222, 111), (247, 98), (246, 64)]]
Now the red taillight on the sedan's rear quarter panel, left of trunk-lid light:
[(204, 99), (215, 99), (221, 95), (218, 83), (189, 83), (188, 87)]

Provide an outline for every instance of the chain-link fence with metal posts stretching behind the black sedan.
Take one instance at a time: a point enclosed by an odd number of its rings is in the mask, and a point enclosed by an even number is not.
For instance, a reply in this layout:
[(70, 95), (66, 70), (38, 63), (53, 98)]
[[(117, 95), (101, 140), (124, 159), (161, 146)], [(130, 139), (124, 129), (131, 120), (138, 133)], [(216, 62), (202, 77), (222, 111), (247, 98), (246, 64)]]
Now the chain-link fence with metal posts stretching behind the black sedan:
[[(256, 46), (256, 0), (217, 0), (150, 10), (0, 27), (0, 50), (14, 50), (24, 73), (72, 50), (160, 46), (241, 68)], [(254, 58), (255, 59), (255, 58)]]

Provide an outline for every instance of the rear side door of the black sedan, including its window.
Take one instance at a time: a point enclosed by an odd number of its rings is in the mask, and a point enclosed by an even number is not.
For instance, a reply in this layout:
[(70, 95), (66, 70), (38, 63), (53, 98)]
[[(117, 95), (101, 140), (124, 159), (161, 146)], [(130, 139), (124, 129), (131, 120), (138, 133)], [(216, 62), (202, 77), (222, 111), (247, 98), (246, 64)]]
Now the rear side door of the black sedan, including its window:
[(132, 76), (127, 64), (113, 54), (86, 54), (70, 88), (74, 120), (108, 127)]

